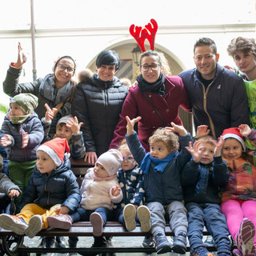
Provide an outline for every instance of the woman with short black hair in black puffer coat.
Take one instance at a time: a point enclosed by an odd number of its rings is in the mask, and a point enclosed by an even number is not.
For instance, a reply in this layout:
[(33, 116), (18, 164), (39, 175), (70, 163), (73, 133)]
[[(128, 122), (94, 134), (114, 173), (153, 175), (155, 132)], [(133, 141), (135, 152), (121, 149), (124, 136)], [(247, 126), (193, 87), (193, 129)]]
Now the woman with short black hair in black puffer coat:
[(77, 116), (85, 146), (85, 161), (93, 164), (99, 155), (105, 153), (118, 124), (122, 103), (128, 94), (128, 87), (114, 74), (120, 65), (114, 50), (104, 50), (96, 59), (97, 72), (84, 77), (74, 90), (72, 115)]

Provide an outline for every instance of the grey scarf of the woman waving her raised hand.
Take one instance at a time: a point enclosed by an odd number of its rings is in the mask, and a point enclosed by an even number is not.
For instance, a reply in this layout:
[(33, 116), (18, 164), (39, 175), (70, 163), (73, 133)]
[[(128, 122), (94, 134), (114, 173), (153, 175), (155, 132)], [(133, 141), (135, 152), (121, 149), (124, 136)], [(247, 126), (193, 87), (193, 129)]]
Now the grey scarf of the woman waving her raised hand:
[(71, 97), (72, 82), (69, 81), (65, 86), (57, 89), (54, 82), (54, 74), (47, 74), (39, 86), (39, 93), (44, 98), (54, 102), (54, 106), (56, 106), (58, 103), (65, 102), (67, 98)]

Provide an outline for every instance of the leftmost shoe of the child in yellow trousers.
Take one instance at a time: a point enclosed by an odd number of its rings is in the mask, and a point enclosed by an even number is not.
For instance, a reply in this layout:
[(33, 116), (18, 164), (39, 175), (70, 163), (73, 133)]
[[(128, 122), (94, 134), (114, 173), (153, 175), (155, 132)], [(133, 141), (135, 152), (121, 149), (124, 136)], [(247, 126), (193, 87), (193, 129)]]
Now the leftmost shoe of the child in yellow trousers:
[(15, 234), (25, 234), (27, 228), (26, 222), (23, 222), (21, 218), (9, 214), (0, 215), (0, 226), (4, 230), (13, 231)]

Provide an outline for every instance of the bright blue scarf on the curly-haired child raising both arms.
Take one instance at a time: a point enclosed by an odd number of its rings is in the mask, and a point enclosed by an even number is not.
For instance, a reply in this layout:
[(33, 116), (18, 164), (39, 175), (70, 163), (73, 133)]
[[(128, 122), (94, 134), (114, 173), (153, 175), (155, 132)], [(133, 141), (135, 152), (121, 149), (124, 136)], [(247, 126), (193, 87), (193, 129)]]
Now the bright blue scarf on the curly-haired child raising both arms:
[(150, 162), (154, 162), (157, 166), (154, 167), (154, 172), (156, 173), (157, 171), (160, 171), (162, 173), (165, 169), (166, 166), (176, 157), (178, 152), (174, 152), (171, 154), (168, 154), (166, 158), (162, 159), (157, 159), (157, 158), (152, 158), (150, 156), (150, 152), (146, 153), (146, 156), (142, 160), (142, 165), (141, 165), (141, 170), (143, 174), (148, 174), (150, 170)]

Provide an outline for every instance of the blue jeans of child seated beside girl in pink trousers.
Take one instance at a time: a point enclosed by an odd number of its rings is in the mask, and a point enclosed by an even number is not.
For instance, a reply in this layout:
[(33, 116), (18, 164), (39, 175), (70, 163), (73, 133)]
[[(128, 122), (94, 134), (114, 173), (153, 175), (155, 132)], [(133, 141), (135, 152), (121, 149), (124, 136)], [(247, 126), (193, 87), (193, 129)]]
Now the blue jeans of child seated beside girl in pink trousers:
[(218, 252), (230, 254), (230, 239), (228, 238), (230, 233), (221, 207), (212, 203), (198, 204), (189, 202), (186, 204), (186, 209), (189, 222), (187, 236), (190, 239), (190, 247), (203, 246), (202, 231), (206, 226), (214, 238)]

